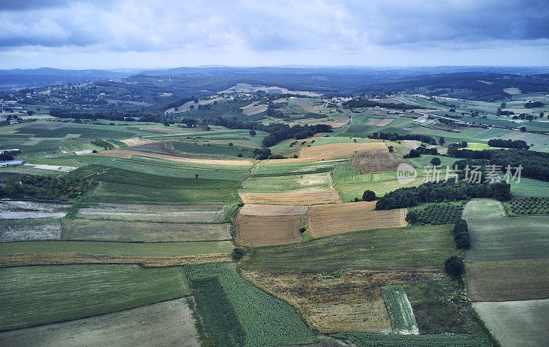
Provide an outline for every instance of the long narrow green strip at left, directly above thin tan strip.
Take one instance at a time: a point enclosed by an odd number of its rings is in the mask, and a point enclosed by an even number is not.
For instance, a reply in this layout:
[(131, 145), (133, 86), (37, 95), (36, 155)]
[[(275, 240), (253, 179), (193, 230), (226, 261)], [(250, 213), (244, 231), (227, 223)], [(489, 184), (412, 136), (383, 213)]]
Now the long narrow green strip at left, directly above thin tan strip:
[(199, 242), (97, 242), (97, 241), (25, 241), (3, 243), (0, 255), (25, 253), (86, 253), (107, 256), (188, 256), (231, 253), (231, 241)]

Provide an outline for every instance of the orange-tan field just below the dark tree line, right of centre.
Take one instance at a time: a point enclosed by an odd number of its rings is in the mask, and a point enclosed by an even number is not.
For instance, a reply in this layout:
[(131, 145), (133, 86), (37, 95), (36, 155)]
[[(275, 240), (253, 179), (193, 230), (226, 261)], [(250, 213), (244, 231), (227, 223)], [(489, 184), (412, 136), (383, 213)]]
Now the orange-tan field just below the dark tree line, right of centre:
[[(329, 210), (330, 206), (335, 207), (333, 211)], [(307, 222), (312, 237), (324, 237), (342, 232), (368, 229), (398, 228), (408, 225), (404, 220), (406, 208), (388, 211), (356, 211), (357, 208), (349, 206), (348, 211), (346, 211), (345, 208), (338, 208), (337, 206), (336, 204), (327, 205), (325, 210), (318, 214), (313, 214), (314, 211), (309, 210)]]

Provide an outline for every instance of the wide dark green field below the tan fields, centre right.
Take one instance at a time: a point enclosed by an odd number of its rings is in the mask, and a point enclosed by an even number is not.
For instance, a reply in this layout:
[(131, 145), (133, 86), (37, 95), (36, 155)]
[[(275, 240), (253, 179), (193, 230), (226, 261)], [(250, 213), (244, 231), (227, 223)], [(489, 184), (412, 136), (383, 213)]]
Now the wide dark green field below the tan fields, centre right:
[(441, 270), (455, 252), (451, 230), (451, 226), (377, 229), (255, 248), (243, 266), (296, 272)]

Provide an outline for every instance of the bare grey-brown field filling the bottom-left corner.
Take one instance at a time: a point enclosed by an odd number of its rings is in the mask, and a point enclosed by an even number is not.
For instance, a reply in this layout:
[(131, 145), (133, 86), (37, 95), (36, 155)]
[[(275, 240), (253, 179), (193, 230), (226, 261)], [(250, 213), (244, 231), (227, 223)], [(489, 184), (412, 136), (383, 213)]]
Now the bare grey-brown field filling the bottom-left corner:
[(185, 346), (200, 346), (185, 298), (0, 333), (2, 346), (179, 346), (182, 342)]

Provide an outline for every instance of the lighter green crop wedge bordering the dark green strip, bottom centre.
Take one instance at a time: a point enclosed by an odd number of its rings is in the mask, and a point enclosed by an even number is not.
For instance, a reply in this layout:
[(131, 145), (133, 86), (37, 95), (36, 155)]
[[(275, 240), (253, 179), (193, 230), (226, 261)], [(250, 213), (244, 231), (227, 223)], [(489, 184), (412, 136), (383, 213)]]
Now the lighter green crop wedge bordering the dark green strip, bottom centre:
[[(248, 283), (237, 274), (233, 263), (189, 265), (187, 271), (195, 290), (198, 290), (195, 283), (200, 280), (206, 278), (219, 280), (221, 287), (217, 290), (224, 293), (216, 295), (225, 295), (231, 302), (246, 332), (246, 346), (307, 344), (316, 339), (289, 304)], [(218, 310), (215, 302), (207, 301), (202, 302), (201, 311), (206, 309), (204, 305), (209, 305), (207, 309), (214, 312)], [(216, 316), (215, 319), (222, 318)], [(222, 324), (216, 326), (222, 326)]]

